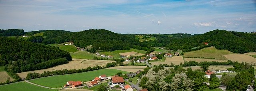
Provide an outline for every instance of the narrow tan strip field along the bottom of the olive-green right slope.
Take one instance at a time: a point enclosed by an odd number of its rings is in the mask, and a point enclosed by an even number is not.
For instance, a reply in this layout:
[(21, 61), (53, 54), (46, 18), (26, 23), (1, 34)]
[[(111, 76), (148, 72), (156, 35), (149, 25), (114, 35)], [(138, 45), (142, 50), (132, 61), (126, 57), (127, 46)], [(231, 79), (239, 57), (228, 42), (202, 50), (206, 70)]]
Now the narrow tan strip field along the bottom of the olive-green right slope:
[(221, 59), (206, 59), (206, 58), (184, 58), (184, 61), (196, 61), (200, 63), (201, 61), (218, 61), (218, 62), (226, 62), (228, 60)]

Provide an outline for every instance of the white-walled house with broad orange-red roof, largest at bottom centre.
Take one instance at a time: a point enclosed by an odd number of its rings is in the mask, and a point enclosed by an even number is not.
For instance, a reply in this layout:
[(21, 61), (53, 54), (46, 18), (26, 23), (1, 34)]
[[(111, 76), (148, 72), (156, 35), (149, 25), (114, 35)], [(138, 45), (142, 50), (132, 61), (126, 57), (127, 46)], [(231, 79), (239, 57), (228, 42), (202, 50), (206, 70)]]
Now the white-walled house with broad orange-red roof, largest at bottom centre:
[(108, 83), (108, 85), (113, 88), (116, 85), (124, 85), (123, 77), (113, 77), (112, 80)]

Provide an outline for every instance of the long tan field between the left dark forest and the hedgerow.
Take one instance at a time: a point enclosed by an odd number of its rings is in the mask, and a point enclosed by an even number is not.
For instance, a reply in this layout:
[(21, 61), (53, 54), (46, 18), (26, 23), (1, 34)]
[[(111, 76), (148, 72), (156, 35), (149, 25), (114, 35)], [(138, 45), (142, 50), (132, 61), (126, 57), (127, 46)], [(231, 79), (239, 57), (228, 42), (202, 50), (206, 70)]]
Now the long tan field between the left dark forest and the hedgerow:
[(94, 67), (96, 65), (98, 66), (105, 66), (107, 63), (111, 63), (115, 61), (110, 61), (110, 60), (93, 60), (93, 59), (73, 59), (72, 61), (69, 61), (66, 64), (58, 65), (55, 67), (51, 67), (48, 69), (41, 69), (41, 70), (36, 70), (36, 71), (27, 71), (27, 72), (22, 72), (22, 73), (17, 73), (20, 75), (22, 78), (26, 78), (27, 74), (30, 72), (36, 72), (36, 73), (44, 73), (44, 71), (54, 71), (54, 70), (62, 70), (62, 69), (82, 69), (82, 68), (87, 68), (87, 67)]

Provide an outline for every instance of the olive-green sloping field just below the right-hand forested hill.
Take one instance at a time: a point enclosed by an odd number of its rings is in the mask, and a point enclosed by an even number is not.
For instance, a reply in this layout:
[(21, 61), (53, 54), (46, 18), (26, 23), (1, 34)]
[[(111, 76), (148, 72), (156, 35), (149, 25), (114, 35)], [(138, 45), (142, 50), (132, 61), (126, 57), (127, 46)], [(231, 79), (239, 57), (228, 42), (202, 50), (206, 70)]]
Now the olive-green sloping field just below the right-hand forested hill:
[(227, 54), (235, 54), (232, 53), (228, 50), (219, 50), (216, 49), (215, 47), (207, 47), (204, 49), (200, 49), (197, 51), (190, 51), (190, 52), (185, 52), (184, 53), (184, 58), (186, 57), (203, 57), (203, 58), (214, 58), (214, 59), (222, 59), (222, 60), (227, 60), (224, 55)]

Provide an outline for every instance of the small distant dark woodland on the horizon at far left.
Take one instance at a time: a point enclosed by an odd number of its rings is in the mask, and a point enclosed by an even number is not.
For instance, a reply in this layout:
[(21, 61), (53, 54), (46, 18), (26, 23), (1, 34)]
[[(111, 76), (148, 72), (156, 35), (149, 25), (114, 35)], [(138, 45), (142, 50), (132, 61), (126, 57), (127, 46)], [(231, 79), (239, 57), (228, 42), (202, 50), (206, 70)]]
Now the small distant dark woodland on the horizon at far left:
[(24, 30), (19, 30), (19, 29), (2, 30), (2, 29), (0, 29), (0, 36), (23, 36), (23, 35), (25, 35)]

